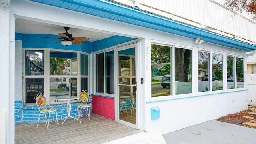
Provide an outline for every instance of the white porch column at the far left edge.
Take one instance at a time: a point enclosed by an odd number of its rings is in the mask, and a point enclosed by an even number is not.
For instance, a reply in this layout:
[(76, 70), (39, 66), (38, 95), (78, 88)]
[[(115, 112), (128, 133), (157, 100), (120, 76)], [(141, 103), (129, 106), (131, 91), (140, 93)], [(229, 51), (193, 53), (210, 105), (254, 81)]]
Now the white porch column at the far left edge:
[(1, 139), (4, 138), (5, 144), (14, 144), (15, 136), (14, 44), (12, 45), (10, 47), (10, 0), (0, 0), (0, 109), (5, 110), (5, 130), (0, 136)]

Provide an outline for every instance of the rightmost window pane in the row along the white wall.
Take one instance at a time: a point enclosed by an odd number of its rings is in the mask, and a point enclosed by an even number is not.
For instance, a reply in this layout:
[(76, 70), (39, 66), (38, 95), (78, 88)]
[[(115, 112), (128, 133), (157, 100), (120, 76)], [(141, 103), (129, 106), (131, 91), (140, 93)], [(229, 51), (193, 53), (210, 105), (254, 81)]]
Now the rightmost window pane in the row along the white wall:
[(244, 59), (236, 58), (237, 88), (244, 88)]

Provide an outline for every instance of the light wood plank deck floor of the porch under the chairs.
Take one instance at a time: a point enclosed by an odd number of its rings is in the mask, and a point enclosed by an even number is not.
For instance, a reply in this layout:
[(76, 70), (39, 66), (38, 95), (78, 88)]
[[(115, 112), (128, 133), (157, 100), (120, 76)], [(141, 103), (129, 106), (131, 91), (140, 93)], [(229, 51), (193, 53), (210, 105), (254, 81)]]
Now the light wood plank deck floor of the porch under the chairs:
[(102, 144), (132, 134), (144, 132), (120, 124), (114, 120), (91, 114), (91, 121), (86, 116), (76, 120), (68, 119), (63, 126), (50, 122), (47, 130), (42, 123), (15, 124), (15, 144)]

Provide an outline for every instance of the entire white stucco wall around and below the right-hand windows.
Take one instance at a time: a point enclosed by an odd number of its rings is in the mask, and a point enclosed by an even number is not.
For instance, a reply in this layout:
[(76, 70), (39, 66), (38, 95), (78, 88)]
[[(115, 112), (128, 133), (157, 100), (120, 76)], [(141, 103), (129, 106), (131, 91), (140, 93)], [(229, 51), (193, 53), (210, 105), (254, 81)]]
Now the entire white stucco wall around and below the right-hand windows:
[[(146, 89), (151, 86), (150, 79), (144, 81), (145, 91), (142, 88), (141, 96), (145, 98), (145, 111), (146, 111), (146, 126), (145, 129), (148, 132), (157, 131), (162, 134), (180, 130), (188, 126), (199, 124), (208, 120), (214, 120), (226, 114), (232, 114), (241, 110), (247, 109), (247, 86), (244, 82), (244, 88), (237, 89), (235, 91), (227, 90), (227, 82), (223, 81), (224, 90), (220, 92), (198, 92), (198, 72), (197, 72), (197, 52), (203, 50), (207, 52), (214, 52), (223, 54), (223, 64), (226, 64), (226, 56), (234, 55), (238, 57), (244, 57), (245, 52), (241, 50), (235, 50), (224, 46), (204, 43), (196, 45), (193, 40), (189, 38), (180, 38), (179, 36), (170, 35), (162, 36), (156, 34), (157, 40), (146, 39), (146, 47), (150, 47), (150, 42), (156, 42), (159, 44), (168, 44), (174, 46), (192, 47), (192, 93), (176, 96), (162, 96), (158, 98), (151, 98), (151, 91)], [(171, 38), (170, 38), (171, 37)], [(168, 38), (168, 40), (167, 40)], [(159, 40), (159, 41), (158, 41)], [(173, 43), (173, 40), (176, 40)], [(178, 44), (177, 44), (178, 43)], [(183, 45), (181, 45), (183, 44)], [(142, 48), (143, 49), (143, 48)], [(150, 56), (149, 56), (150, 57)], [(146, 59), (146, 57), (144, 57)], [(144, 59), (142, 58), (142, 59)], [(147, 65), (146, 61), (140, 63), (142, 66)], [(150, 77), (150, 69), (145, 70), (145, 77)], [(246, 58), (244, 57), (244, 70), (247, 69)], [(143, 71), (142, 71), (143, 72)], [(142, 74), (143, 76), (144, 74)], [(223, 68), (223, 78), (227, 77), (227, 71)], [(244, 75), (246, 80), (246, 75)], [(143, 103), (143, 102), (142, 102)], [(150, 108), (158, 106), (160, 107), (160, 118), (151, 120)], [(142, 118), (143, 120), (143, 118)]]

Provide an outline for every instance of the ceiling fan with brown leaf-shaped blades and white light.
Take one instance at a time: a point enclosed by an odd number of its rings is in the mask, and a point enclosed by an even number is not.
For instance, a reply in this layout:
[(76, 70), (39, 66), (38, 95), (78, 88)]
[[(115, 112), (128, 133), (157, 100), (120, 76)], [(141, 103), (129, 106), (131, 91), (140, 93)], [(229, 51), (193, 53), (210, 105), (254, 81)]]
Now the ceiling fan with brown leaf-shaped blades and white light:
[[(70, 46), (71, 44), (76, 44), (76, 45), (81, 45), (83, 44), (82, 41), (87, 41), (89, 38), (86, 37), (72, 37), (72, 34), (68, 33), (69, 27), (64, 27), (66, 30), (65, 33), (59, 33), (59, 36), (61, 38), (56, 38), (56, 39), (62, 39), (58, 42), (55, 42), (56, 44), (61, 43), (64, 46)], [(43, 37), (43, 38), (51, 38), (51, 37)]]

